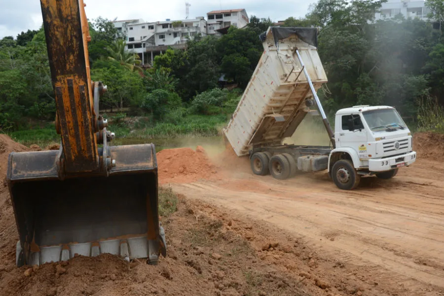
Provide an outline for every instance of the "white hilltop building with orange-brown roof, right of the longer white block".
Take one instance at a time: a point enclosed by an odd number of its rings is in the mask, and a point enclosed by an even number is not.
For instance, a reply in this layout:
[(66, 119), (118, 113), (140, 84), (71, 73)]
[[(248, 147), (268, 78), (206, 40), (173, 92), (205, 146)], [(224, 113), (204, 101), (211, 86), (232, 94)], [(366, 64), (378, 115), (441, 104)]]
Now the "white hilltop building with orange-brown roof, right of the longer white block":
[(230, 26), (240, 29), (249, 22), (245, 9), (213, 10), (207, 13), (207, 34), (220, 36)]

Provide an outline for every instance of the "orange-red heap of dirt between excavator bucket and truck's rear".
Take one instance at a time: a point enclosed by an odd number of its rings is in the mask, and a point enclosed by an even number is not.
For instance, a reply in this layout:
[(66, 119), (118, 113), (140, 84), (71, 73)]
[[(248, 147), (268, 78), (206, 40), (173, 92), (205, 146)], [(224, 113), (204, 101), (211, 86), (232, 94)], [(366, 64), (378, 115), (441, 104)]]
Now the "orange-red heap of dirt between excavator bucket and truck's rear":
[(156, 153), (160, 184), (189, 183), (200, 179), (212, 179), (217, 168), (209, 160), (205, 150), (191, 148), (164, 149)]

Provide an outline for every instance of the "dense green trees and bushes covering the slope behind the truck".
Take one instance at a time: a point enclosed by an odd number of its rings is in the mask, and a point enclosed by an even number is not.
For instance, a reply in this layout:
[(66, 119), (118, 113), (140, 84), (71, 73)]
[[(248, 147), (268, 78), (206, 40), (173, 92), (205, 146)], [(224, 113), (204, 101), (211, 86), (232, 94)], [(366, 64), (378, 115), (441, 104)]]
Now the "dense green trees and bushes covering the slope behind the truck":
[[(284, 26), (319, 29), (318, 50), (329, 77), (319, 95), (329, 113), (356, 104), (384, 104), (419, 128), (443, 132), (442, 0), (427, 2), (435, 23), (402, 15), (374, 22), (381, 2), (318, 0), (304, 18), (290, 17)], [(195, 37), (185, 51), (169, 49), (143, 70), (109, 20), (92, 20), (91, 74), (108, 85), (101, 107), (113, 112), (111, 119), (124, 135), (133, 129), (146, 136), (215, 134), (256, 68), (262, 53), (259, 34), (270, 25), (269, 19), (252, 16), (247, 29), (230, 28), (221, 38)], [(222, 89), (221, 77), (236, 88)], [(0, 128), (22, 135), (26, 132), (20, 130), (54, 117), (43, 29), (2, 38)]]

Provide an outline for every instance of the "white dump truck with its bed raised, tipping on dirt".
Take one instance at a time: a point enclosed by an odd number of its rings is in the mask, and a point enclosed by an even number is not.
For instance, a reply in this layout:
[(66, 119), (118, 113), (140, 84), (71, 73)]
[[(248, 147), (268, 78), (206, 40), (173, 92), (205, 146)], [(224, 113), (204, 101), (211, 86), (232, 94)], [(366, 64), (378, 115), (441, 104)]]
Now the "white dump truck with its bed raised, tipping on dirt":
[[(328, 170), (337, 187), (350, 190), (361, 176), (390, 179), (416, 160), (410, 131), (392, 107), (341, 109), (333, 132), (316, 94), (328, 81), (316, 29), (270, 27), (260, 39), (264, 52), (222, 130), (237, 156), (249, 155), (253, 173), (283, 180), (296, 170)], [(330, 146), (283, 144), (309, 113), (322, 116)]]

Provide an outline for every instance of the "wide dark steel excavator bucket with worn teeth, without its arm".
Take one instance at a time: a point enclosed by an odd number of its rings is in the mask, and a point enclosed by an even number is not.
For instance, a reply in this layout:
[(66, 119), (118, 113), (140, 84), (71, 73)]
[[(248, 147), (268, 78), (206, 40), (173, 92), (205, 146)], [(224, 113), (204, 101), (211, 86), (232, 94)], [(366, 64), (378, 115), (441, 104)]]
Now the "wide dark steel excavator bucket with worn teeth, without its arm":
[(101, 253), (155, 264), (165, 255), (154, 145), (109, 147), (118, 162), (108, 176), (61, 177), (60, 153), (9, 156), (7, 181), (20, 237), (17, 265)]

